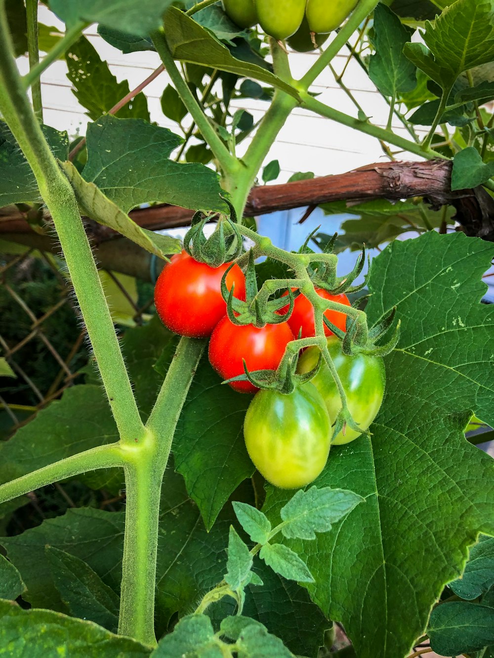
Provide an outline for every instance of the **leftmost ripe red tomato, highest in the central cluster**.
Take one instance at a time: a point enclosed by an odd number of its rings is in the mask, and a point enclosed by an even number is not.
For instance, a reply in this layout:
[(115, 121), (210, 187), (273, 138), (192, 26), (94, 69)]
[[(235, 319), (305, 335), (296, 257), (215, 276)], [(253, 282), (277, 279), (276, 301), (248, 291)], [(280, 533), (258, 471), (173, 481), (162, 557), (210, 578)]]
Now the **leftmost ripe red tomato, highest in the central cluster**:
[[(171, 257), (158, 277), (154, 289), (154, 303), (161, 322), (180, 336), (206, 338), (227, 313), (221, 297), (221, 277), (230, 263), (209, 267), (198, 263), (186, 253)], [(227, 275), (227, 288), (245, 299), (244, 273), (234, 265)]]

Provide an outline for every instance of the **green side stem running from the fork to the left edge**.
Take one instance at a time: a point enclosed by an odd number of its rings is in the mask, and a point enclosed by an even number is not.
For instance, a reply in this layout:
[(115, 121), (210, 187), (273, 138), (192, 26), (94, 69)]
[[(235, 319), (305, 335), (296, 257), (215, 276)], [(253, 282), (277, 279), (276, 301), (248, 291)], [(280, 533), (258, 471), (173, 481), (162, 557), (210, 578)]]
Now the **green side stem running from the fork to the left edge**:
[(0, 486), (0, 503), (5, 503), (47, 484), (73, 478), (88, 470), (122, 466), (123, 458), (117, 443), (91, 448), (2, 484)]

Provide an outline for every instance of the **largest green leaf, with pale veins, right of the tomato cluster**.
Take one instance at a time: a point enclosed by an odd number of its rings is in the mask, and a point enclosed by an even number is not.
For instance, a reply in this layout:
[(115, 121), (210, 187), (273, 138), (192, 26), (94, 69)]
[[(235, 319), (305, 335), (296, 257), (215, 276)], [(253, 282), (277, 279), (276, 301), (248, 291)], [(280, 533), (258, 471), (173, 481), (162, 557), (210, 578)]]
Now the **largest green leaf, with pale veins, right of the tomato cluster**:
[[(370, 322), (396, 306), (400, 342), (385, 358), (371, 438), (333, 447), (316, 480), (366, 505), (315, 542), (285, 540), (316, 579), (314, 601), (344, 623), (359, 658), (407, 655), (468, 545), (494, 532), (493, 461), (462, 432), (470, 410), (494, 422), (494, 308), (476, 303), (492, 256), (484, 241), (429, 232), (393, 242), (373, 263)], [(265, 513), (277, 518), (287, 497), (270, 488)]]

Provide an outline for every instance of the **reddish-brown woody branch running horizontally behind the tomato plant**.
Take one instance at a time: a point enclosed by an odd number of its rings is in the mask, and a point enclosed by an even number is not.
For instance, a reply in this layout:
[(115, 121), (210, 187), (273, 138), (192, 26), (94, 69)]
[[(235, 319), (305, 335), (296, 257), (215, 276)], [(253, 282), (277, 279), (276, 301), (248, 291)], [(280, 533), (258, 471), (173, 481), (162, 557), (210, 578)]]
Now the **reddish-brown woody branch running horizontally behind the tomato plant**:
[[(451, 167), (451, 161), (447, 160), (375, 163), (346, 174), (261, 186), (252, 189), (245, 215), (252, 217), (331, 201), (346, 201), (351, 205), (371, 199), (397, 201), (424, 197), (434, 208), (453, 205), (455, 219), (468, 236), (494, 241), (494, 200), (483, 188), (451, 191)], [(188, 209), (165, 204), (130, 213), (135, 222), (151, 230), (186, 226), (192, 215)], [(90, 220), (88, 230), (96, 242), (119, 236)], [(29, 231), (21, 213), (0, 216), (0, 233)]]

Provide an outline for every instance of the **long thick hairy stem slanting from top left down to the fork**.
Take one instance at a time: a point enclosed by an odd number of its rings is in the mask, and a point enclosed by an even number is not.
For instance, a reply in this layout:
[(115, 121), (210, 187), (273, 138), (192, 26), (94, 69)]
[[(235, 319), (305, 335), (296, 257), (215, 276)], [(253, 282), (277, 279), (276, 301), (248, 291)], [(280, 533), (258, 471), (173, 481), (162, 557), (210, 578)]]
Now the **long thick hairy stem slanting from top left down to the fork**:
[(22, 89), (5, 11), (0, 11), (0, 111), (36, 176), (41, 197), (53, 218), (121, 439), (133, 442), (144, 432), (144, 426), (103, 287), (74, 191), (53, 157)]

